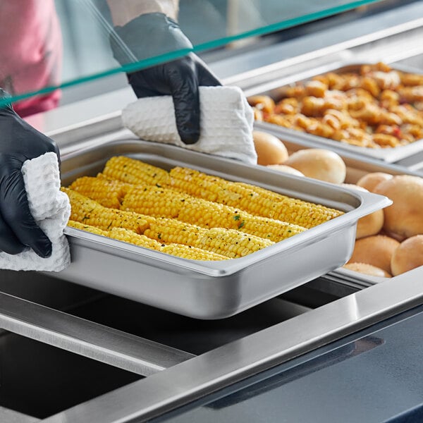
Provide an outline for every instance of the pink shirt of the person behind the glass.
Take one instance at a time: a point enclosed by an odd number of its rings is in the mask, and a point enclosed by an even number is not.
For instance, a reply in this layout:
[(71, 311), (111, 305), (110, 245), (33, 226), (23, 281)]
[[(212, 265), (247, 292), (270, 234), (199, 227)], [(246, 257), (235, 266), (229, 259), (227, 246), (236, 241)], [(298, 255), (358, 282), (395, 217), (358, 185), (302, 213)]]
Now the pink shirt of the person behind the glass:
[[(23, 94), (58, 85), (61, 31), (54, 0), (0, 0), (0, 87)], [(13, 105), (20, 116), (54, 108), (60, 91)]]

